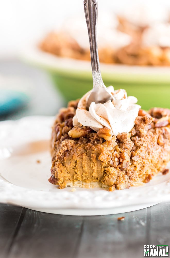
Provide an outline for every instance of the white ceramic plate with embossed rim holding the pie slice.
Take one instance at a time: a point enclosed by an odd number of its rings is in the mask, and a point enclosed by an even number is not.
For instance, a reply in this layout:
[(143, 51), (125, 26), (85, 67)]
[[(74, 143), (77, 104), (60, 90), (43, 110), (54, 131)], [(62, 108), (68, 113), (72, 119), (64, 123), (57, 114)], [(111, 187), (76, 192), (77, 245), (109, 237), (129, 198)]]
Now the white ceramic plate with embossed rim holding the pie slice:
[[(105, 215), (134, 211), (170, 200), (170, 173), (140, 187), (109, 192), (48, 182), (53, 117), (0, 122), (0, 202), (66, 215)], [(40, 161), (40, 163), (37, 162)], [(170, 166), (168, 166), (170, 168)]]

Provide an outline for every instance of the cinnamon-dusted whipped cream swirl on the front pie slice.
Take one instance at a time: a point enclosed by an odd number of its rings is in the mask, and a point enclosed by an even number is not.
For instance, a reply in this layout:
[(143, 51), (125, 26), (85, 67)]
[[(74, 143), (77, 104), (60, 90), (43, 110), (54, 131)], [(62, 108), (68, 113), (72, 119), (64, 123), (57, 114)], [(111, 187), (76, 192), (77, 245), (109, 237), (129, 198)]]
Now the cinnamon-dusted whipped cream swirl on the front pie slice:
[(141, 106), (137, 105), (137, 98), (127, 96), (123, 89), (115, 90), (113, 86), (107, 87), (112, 94), (113, 100), (106, 103), (92, 102), (89, 111), (86, 110), (86, 103), (91, 91), (87, 92), (79, 101), (76, 114), (73, 117), (73, 126), (89, 126), (98, 132), (100, 128), (108, 127), (112, 135), (118, 133), (129, 133), (134, 126)]

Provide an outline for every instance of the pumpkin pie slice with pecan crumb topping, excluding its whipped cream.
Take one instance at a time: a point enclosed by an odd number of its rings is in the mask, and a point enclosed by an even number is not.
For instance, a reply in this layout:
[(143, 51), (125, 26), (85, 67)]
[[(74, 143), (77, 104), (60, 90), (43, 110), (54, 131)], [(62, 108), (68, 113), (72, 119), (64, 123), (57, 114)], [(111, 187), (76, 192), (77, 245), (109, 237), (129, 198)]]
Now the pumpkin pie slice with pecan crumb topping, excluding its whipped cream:
[(73, 126), (77, 101), (60, 110), (52, 130), (52, 176), (60, 189), (102, 187), (113, 191), (148, 183), (170, 160), (170, 110), (139, 110), (130, 132), (112, 135), (81, 123)]

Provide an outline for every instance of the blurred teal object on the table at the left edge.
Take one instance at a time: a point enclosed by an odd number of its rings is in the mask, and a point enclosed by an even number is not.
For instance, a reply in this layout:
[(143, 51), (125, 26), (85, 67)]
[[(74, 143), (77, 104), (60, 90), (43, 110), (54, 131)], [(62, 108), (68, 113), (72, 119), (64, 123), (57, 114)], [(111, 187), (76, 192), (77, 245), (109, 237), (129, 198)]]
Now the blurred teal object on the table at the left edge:
[(0, 89), (0, 115), (6, 115), (16, 111), (28, 103), (29, 97), (26, 93)]

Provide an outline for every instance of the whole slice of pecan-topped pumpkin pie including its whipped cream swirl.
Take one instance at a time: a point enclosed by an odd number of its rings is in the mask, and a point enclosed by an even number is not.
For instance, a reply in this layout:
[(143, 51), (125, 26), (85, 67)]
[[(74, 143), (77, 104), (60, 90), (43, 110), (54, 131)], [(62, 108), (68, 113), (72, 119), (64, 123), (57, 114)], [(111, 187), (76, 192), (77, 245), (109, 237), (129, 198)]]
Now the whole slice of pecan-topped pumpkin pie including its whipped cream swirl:
[[(52, 176), (60, 189), (102, 187), (113, 191), (148, 183), (170, 160), (170, 110), (146, 112), (125, 90), (92, 102), (90, 92), (60, 110), (52, 130)], [(166, 170), (167, 171), (167, 170)]]

